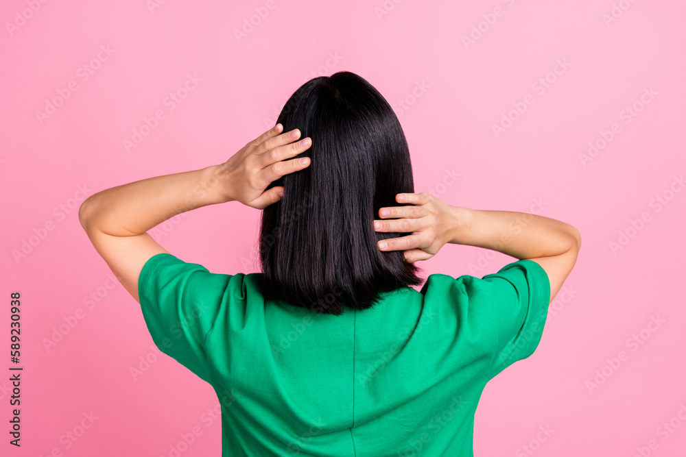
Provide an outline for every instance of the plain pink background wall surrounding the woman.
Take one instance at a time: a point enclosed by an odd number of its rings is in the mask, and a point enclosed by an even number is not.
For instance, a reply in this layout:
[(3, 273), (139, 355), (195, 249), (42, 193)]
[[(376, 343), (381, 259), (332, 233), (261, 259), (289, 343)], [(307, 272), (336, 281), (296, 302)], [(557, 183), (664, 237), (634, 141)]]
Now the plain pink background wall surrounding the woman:
[[(78, 203), (84, 191), (223, 162), (274, 124), (300, 84), (347, 70), (396, 109), (416, 192), (537, 212), (582, 233), (539, 349), (486, 386), (475, 454), (683, 455), (683, 2), (160, 3), (0, 7), (0, 349), (8, 356), (10, 291), (21, 291), (25, 367), (21, 452), (7, 443), (10, 382), (0, 375), (0, 454), (170, 456), (196, 430), (180, 455), (220, 455), (215, 393), (154, 349), (138, 304), (80, 227)], [(185, 97), (173, 110), (172, 92)], [(127, 151), (134, 130), (146, 135)], [(584, 162), (589, 142), (601, 148)], [(232, 202), (152, 234), (212, 272), (250, 273), (258, 217)], [(514, 261), (492, 252), (448, 246), (422, 265), (481, 277)]]

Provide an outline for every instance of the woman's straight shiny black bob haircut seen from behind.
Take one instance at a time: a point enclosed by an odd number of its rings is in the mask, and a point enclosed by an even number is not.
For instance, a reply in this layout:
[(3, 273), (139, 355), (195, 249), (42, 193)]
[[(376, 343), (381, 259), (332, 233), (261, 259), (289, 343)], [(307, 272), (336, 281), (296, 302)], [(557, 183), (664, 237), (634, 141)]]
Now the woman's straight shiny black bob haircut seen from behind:
[[(276, 123), (300, 129), (312, 145), (295, 158), (310, 165), (272, 182), (283, 198), (264, 208), (260, 228), (261, 293), (323, 314), (364, 310), (380, 293), (421, 284), (403, 251), (377, 241), (384, 206), (414, 193), (410, 150), (388, 101), (365, 79), (340, 71), (315, 77), (288, 99)], [(407, 203), (405, 203), (407, 204)]]

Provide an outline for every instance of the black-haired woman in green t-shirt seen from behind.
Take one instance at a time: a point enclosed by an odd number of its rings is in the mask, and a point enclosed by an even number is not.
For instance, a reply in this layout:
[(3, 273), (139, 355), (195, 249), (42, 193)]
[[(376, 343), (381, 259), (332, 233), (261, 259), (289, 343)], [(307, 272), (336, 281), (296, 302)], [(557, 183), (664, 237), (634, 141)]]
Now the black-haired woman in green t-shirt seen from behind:
[[(263, 210), (263, 273), (210, 273), (146, 233), (226, 201)], [(348, 72), (305, 83), (226, 163), (103, 190), (79, 218), (154, 343), (215, 388), (226, 456), (472, 456), (486, 382), (536, 349), (581, 245), (554, 219), (414, 193), (397, 116)], [(520, 260), (410, 287), (447, 243)]]

